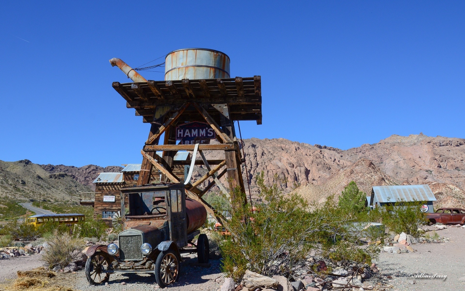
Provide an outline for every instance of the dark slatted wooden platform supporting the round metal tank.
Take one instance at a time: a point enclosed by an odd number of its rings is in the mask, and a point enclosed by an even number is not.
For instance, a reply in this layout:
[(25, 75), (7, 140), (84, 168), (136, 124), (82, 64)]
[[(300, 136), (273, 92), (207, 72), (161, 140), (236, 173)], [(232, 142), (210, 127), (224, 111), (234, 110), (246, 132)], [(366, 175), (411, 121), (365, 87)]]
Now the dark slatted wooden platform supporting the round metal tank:
[[(152, 81), (140, 83), (113, 82), (113, 88), (126, 100), (127, 108), (135, 108), (143, 122), (153, 122), (157, 106), (171, 106), (170, 112), (186, 102), (202, 105), (219, 123), (220, 113), (212, 104), (229, 105), (232, 120), (255, 120), (261, 124), (261, 78), (236, 77), (179, 81)], [(201, 120), (198, 111), (190, 106), (179, 118), (180, 122)]]

